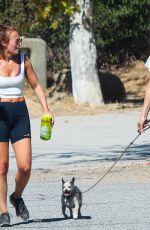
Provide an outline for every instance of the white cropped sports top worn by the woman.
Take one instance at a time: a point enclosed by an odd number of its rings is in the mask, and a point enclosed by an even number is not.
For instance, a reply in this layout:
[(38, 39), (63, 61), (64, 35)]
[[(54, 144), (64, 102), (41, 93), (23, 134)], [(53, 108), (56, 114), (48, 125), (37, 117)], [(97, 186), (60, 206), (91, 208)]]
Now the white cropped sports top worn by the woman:
[(20, 73), (15, 77), (0, 75), (0, 98), (23, 97), (24, 90), (24, 53), (20, 53)]

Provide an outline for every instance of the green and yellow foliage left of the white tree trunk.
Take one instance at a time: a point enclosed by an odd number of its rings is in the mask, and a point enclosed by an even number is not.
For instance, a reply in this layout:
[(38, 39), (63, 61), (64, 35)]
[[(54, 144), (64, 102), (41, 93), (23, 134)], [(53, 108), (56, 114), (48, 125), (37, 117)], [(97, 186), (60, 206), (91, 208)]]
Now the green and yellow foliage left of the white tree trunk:
[(0, 0), (0, 23), (17, 27), (22, 36), (44, 39), (50, 47), (48, 68), (55, 72), (69, 65), (69, 17), (73, 10), (77, 8), (72, 1)]

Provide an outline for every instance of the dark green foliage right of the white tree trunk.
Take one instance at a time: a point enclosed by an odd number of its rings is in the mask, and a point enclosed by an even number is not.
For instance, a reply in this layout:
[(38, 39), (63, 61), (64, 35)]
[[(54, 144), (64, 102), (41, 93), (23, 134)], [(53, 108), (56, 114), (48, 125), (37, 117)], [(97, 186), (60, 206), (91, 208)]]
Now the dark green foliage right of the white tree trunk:
[[(148, 56), (150, 2), (93, 0), (99, 65)], [(150, 48), (150, 47), (149, 47)]]

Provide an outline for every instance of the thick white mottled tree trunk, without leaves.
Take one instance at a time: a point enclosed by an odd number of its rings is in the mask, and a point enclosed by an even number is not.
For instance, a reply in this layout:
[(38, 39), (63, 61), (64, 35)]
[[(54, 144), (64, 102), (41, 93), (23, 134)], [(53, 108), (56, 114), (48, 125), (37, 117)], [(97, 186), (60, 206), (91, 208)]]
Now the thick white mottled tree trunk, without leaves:
[(92, 0), (77, 0), (70, 25), (70, 60), (73, 97), (76, 103), (103, 104), (96, 65), (96, 46), (92, 33)]

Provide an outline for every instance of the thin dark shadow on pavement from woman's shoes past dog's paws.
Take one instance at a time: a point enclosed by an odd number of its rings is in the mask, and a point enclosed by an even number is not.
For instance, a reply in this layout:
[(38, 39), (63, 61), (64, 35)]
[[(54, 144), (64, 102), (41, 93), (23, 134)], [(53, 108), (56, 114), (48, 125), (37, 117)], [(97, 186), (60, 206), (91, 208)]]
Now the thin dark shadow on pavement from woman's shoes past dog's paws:
[[(71, 218), (48, 218), (48, 219), (33, 219), (33, 220), (28, 220), (28, 221), (22, 221), (16, 224), (12, 224), (10, 227), (14, 227), (14, 226), (19, 226), (19, 225), (23, 225), (23, 224), (33, 224), (33, 223), (51, 223), (51, 222), (58, 222), (58, 221), (64, 221), (64, 220), (70, 220)], [(91, 216), (81, 216), (79, 218), (80, 219), (92, 219)]]

